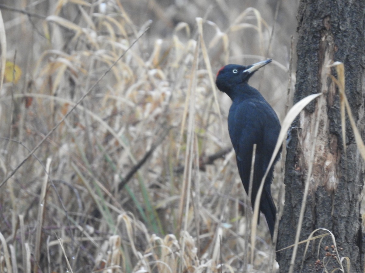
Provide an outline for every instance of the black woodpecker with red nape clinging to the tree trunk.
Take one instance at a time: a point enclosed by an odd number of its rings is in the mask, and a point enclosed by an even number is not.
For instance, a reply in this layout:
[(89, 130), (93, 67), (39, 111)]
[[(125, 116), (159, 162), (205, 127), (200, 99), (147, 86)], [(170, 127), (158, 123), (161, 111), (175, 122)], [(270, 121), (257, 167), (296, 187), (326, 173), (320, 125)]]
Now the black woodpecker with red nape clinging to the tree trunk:
[[(227, 64), (220, 68), (215, 82), (218, 89), (226, 93), (232, 100), (228, 112), (228, 132), (236, 154), (238, 173), (247, 194), (249, 193), (253, 146), (256, 144), (251, 192), (252, 206), (254, 206), (262, 177), (272, 157), (281, 126), (276, 112), (260, 92), (248, 84), (248, 80), (259, 68), (271, 61), (272, 59), (268, 59), (250, 66)], [(274, 165), (279, 157), (280, 152), (270, 167), (260, 200), (260, 211), (265, 215), (271, 238), (274, 234), (276, 207), (271, 196), (270, 185)]]

